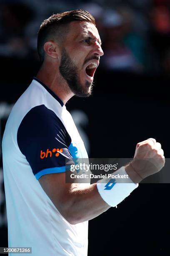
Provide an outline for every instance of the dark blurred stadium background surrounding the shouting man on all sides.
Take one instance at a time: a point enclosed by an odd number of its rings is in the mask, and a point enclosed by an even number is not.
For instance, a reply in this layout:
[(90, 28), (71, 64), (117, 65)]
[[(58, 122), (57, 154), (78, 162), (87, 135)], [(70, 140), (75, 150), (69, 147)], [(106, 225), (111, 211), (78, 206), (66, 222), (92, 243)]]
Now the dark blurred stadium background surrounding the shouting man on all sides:
[[(104, 51), (92, 96), (73, 97), (66, 105), (89, 156), (131, 158), (136, 143), (152, 137), (169, 158), (169, 0), (1, 0), (1, 141), (11, 108), (40, 67), (40, 23), (80, 8), (95, 17)], [(91, 220), (88, 256), (169, 256), (169, 188), (140, 184), (117, 209)], [(7, 247), (1, 148), (0, 246)]]

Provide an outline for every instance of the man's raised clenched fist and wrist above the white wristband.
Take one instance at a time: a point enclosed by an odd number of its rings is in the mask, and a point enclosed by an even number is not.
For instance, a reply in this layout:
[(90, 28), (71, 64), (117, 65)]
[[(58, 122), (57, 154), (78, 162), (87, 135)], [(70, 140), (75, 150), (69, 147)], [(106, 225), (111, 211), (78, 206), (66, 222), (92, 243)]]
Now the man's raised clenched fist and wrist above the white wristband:
[(135, 156), (125, 171), (135, 183), (159, 172), (165, 165), (165, 156), (161, 144), (154, 138), (139, 142), (136, 145)]

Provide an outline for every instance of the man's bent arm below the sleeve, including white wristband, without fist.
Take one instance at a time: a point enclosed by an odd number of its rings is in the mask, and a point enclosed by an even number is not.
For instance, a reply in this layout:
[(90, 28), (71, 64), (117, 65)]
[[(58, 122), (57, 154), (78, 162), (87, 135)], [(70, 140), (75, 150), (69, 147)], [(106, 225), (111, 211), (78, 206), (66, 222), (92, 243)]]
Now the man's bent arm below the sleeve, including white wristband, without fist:
[[(114, 174), (115, 177), (116, 174), (127, 175), (124, 167)], [(80, 184), (65, 183), (63, 173), (43, 175), (39, 182), (60, 214), (71, 224), (91, 220), (111, 206), (116, 207), (138, 186), (132, 180), (120, 183), (118, 178), (106, 178), (82, 188)]]

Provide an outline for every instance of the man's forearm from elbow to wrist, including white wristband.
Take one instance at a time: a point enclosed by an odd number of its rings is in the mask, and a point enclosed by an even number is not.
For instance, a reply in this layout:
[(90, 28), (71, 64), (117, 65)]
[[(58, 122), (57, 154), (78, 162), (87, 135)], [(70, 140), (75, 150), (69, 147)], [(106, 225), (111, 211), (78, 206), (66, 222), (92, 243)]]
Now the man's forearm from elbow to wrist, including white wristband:
[[(120, 174), (124, 177), (125, 168), (122, 166), (116, 172), (115, 177)], [(102, 179), (97, 184), (89, 185), (80, 189), (73, 185), (70, 190), (70, 209), (68, 212), (70, 220), (75, 223), (90, 220), (105, 212), (110, 206), (116, 207), (130, 193), (138, 187), (130, 177), (120, 181), (119, 178)]]

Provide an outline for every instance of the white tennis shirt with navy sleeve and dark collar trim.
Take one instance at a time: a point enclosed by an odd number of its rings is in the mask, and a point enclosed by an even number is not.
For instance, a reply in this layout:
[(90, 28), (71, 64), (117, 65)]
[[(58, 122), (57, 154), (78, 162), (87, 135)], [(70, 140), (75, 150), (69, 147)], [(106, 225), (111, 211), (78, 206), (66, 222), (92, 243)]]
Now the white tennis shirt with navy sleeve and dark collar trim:
[(32, 247), (32, 256), (87, 256), (88, 222), (68, 223), (38, 182), (87, 152), (63, 102), (37, 78), (10, 113), (2, 156), (8, 246)]

